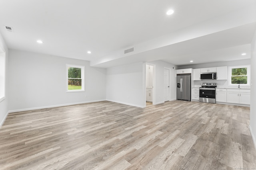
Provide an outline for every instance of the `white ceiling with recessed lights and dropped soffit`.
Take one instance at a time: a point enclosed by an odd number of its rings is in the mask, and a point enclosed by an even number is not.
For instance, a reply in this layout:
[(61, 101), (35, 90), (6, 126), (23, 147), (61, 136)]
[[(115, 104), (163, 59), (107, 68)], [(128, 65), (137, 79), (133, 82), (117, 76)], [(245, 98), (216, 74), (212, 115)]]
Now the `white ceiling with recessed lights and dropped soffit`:
[[(166, 15), (169, 9), (174, 10), (171, 16)], [(0, 33), (9, 49), (105, 68), (138, 61), (181, 66), (190, 60), (249, 59), (255, 30), (255, 0), (0, 1)], [(130, 47), (134, 52), (124, 55)]]

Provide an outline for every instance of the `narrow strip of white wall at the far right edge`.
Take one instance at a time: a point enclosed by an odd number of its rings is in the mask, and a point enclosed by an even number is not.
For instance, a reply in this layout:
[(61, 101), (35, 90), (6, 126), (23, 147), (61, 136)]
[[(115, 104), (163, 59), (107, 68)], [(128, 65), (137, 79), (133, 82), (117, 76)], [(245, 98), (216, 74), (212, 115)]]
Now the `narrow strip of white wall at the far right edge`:
[(251, 106), (250, 106), (250, 131), (256, 149), (256, 31), (251, 43)]

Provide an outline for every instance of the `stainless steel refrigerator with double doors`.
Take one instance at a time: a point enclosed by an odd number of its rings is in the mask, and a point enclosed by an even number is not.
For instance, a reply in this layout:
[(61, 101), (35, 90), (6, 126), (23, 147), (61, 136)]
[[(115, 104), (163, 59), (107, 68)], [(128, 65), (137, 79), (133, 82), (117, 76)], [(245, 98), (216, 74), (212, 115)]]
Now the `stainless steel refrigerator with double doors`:
[(177, 74), (176, 98), (177, 100), (191, 101), (191, 74)]

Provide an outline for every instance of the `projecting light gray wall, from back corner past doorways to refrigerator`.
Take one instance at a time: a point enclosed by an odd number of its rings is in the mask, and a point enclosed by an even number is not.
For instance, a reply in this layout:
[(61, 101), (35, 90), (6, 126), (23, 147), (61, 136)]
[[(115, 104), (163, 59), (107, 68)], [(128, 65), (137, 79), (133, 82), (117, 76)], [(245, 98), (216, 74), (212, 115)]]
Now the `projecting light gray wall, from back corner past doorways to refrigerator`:
[[(164, 68), (170, 68), (170, 100), (176, 99), (175, 65), (152, 61), (156, 66), (156, 103), (164, 103)], [(146, 63), (107, 68), (107, 100), (137, 107), (146, 107)]]

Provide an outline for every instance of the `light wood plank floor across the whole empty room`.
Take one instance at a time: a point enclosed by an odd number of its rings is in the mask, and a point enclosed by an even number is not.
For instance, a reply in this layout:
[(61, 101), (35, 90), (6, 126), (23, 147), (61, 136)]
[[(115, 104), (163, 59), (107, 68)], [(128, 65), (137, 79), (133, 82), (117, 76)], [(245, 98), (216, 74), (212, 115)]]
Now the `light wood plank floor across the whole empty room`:
[(250, 108), (95, 102), (10, 113), (0, 169), (255, 169)]

